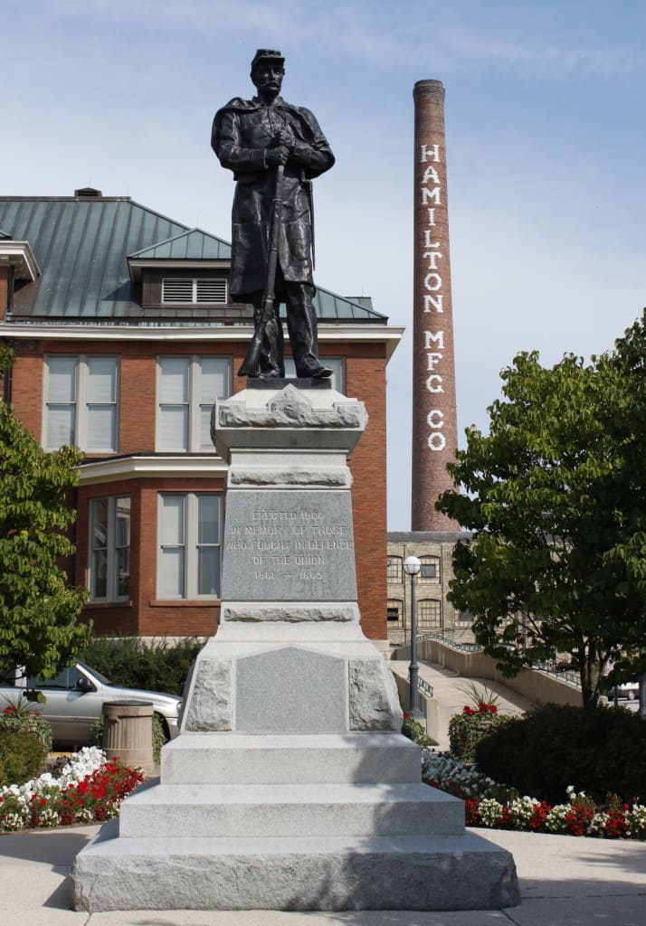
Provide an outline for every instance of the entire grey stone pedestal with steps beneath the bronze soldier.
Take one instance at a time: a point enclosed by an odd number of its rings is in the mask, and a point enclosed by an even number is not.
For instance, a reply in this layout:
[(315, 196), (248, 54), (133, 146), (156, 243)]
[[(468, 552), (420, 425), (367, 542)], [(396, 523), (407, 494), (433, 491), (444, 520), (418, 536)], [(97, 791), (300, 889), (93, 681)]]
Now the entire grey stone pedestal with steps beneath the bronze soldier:
[(421, 782), (392, 673), (361, 632), (347, 458), (366, 421), (332, 389), (217, 404), (220, 628), (187, 680), (161, 782), (77, 857), (77, 909), (519, 902), (510, 854)]

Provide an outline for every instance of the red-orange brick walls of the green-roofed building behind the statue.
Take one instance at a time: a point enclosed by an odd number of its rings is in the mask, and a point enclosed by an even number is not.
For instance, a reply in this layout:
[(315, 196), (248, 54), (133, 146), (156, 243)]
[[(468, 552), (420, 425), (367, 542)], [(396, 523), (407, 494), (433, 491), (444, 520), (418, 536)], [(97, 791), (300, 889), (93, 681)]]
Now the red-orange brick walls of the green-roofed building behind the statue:
[[(155, 449), (156, 357), (234, 357), (234, 372), (245, 355), (245, 344), (139, 344), (135, 342), (21, 342), (13, 377), (13, 398), (19, 419), (40, 441), (43, 423), (44, 355), (115, 354), (120, 356), (119, 454), (151, 453)], [(383, 344), (324, 346), (331, 356), (346, 355), (346, 392), (366, 405), (369, 423), (352, 454), (352, 505), (361, 622), (367, 636), (386, 639), (386, 357)], [(234, 376), (234, 391), (247, 384)], [(218, 603), (161, 602), (157, 598), (158, 493), (162, 491), (221, 491), (222, 480), (135, 479), (83, 485), (78, 490), (75, 581), (87, 583), (89, 502), (107, 495), (131, 496), (131, 601), (88, 604), (86, 618), (96, 632), (143, 636), (211, 634)]]

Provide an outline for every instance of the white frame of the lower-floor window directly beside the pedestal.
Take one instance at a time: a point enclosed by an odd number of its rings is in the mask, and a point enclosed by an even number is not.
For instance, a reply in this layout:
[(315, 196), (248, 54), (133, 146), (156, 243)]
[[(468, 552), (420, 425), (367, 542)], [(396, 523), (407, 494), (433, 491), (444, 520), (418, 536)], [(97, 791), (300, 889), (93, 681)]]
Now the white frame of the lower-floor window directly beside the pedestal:
[[(218, 543), (198, 544), (198, 499), (202, 495), (215, 496), (220, 505), (218, 519)], [(163, 544), (162, 518), (164, 498), (184, 499), (184, 544)], [(160, 601), (219, 601), (222, 594), (222, 492), (160, 492), (158, 493), (158, 556), (157, 556), (157, 596)], [(218, 576), (218, 594), (198, 594), (198, 549), (200, 546), (217, 546), (220, 550), (220, 570)], [(162, 590), (161, 578), (164, 569), (163, 551), (165, 548), (184, 549), (184, 594), (170, 595)]]

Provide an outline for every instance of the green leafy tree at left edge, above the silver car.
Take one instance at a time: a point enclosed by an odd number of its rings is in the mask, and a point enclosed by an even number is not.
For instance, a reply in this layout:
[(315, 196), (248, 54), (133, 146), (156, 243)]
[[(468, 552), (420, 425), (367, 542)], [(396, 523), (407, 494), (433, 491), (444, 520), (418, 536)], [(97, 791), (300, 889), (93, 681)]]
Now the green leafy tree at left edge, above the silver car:
[[(0, 377), (12, 362), (0, 347)], [(51, 677), (87, 643), (77, 623), (86, 591), (70, 586), (59, 561), (74, 552), (66, 507), (80, 451), (45, 451), (0, 401), (0, 681), (15, 667)]]

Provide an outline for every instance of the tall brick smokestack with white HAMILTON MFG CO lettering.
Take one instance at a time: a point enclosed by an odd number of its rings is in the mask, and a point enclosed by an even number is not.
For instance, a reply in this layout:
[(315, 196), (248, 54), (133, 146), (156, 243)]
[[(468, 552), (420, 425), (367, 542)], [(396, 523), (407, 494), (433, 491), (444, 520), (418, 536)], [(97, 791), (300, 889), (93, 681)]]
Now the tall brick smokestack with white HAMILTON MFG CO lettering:
[(444, 87), (417, 81), (415, 104), (412, 530), (458, 531), (435, 509), (452, 487), (446, 465), (458, 445), (450, 293)]

